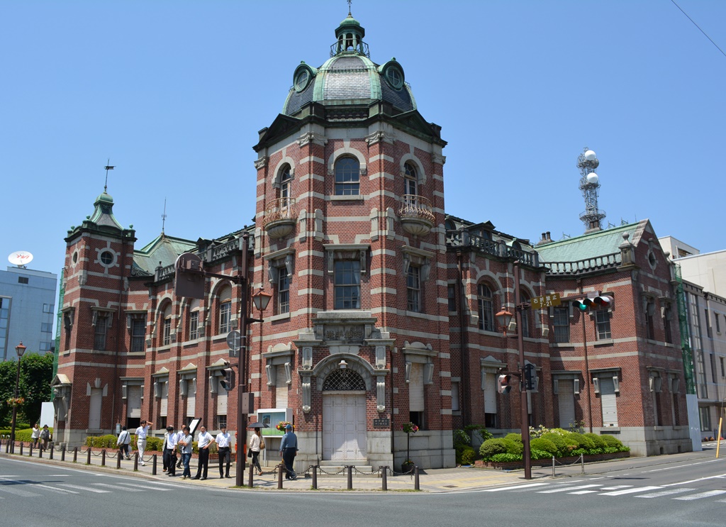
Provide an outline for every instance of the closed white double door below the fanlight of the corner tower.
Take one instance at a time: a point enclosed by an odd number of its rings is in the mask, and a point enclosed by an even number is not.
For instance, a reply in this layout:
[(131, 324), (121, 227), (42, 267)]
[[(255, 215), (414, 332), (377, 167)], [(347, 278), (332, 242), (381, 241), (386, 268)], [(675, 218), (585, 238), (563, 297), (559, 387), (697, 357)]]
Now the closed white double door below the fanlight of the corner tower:
[(366, 459), (365, 393), (323, 393), (323, 459)]

